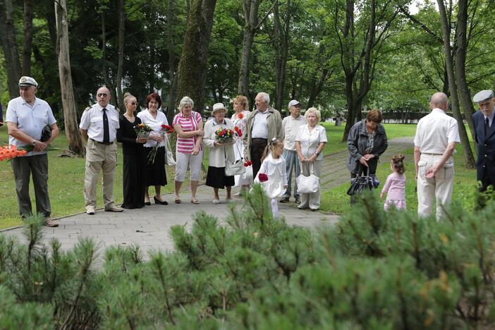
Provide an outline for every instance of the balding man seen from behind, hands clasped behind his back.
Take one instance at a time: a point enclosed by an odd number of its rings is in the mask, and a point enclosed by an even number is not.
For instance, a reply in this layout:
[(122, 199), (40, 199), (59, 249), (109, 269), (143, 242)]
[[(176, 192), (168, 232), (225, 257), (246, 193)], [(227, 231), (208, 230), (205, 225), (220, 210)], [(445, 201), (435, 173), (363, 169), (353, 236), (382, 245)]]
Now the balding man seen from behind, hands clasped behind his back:
[(429, 216), (436, 200), (436, 219), (441, 219), (442, 207), (452, 199), (453, 157), (460, 142), (458, 123), (448, 116), (448, 97), (443, 92), (433, 94), (432, 112), (417, 123), (414, 138), (414, 161), (417, 177), (417, 214)]

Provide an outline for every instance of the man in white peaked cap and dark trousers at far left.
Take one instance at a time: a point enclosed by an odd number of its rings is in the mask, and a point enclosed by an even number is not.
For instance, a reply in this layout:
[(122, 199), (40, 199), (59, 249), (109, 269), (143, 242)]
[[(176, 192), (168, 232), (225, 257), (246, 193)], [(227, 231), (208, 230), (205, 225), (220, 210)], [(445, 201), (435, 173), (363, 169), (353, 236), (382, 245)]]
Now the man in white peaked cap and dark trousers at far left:
[[(20, 97), (8, 102), (6, 123), (8, 128), (9, 145), (16, 147), (32, 146), (32, 151), (24, 157), (11, 159), (16, 193), (21, 217), (32, 214), (29, 196), (29, 181), (35, 188), (36, 212), (45, 217), (44, 225), (56, 227), (51, 221), (51, 205), (48, 196), (48, 156), (47, 146), (59, 135), (54, 114), (47, 102), (36, 97), (38, 83), (31, 77), (21, 77), (19, 80)], [(41, 142), (42, 131), (49, 126), (51, 136)]]

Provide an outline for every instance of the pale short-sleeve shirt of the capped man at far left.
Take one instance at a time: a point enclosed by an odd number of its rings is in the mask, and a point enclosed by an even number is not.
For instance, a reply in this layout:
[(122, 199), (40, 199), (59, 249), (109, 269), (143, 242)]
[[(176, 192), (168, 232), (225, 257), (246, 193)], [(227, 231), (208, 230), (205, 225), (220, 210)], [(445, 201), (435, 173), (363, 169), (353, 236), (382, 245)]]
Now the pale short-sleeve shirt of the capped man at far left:
[[(31, 106), (22, 97), (16, 97), (8, 102), (6, 122), (16, 123), (17, 128), (35, 140), (39, 140), (44, 126), (56, 123), (55, 117), (49, 104), (42, 99), (35, 97), (35, 104)], [(12, 136), (9, 136), (8, 143), (17, 147), (26, 144)], [(30, 152), (31, 154), (44, 154), (46, 152)]]

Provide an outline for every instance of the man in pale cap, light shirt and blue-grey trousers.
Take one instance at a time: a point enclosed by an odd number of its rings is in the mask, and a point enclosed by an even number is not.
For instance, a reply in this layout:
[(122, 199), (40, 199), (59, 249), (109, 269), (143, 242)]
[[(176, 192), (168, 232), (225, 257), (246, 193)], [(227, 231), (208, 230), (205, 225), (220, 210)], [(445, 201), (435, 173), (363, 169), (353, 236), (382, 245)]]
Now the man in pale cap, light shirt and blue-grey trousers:
[[(301, 104), (293, 99), (288, 104), (288, 109), (291, 111), (291, 116), (287, 116), (282, 120), (283, 135), (283, 158), (286, 159), (287, 170), (287, 190), (283, 194), (281, 203), (289, 202), (292, 191), (292, 171), (294, 169), (295, 176), (297, 178), (300, 174), (300, 163), (298, 159), (298, 153), (295, 151), (295, 135), (298, 134), (300, 126), (306, 123), (306, 118), (301, 116)], [(296, 203), (300, 203), (298, 193), (298, 183), (294, 180), (294, 198)]]

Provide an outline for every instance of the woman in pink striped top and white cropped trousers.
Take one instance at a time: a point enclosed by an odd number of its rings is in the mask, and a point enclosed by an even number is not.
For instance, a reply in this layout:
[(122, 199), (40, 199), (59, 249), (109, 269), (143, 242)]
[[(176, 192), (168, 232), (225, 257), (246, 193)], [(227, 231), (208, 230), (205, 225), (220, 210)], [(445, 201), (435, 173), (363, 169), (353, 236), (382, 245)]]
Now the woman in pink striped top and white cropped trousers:
[(173, 129), (177, 132), (175, 191), (177, 204), (181, 204), (181, 185), (189, 167), (191, 181), (191, 203), (200, 204), (196, 198), (197, 183), (200, 181), (203, 160), (203, 120), (193, 111), (194, 102), (183, 97), (179, 103), (179, 113), (173, 118)]

